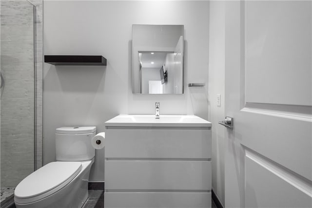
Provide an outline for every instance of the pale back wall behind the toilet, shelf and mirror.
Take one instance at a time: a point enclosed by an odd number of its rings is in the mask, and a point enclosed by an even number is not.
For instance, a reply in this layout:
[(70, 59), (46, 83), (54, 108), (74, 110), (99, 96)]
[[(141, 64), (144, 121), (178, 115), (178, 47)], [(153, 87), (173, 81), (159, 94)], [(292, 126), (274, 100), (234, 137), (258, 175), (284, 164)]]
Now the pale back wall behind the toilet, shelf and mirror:
[[(44, 55), (102, 55), (107, 66), (44, 64), (43, 163), (55, 160), (55, 129), (97, 126), (120, 113), (196, 114), (208, 119), (208, 1), (45, 1)], [(183, 95), (134, 95), (132, 24), (183, 24)], [(91, 181), (104, 179), (97, 150)]]

